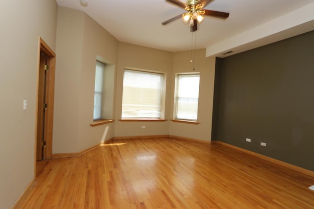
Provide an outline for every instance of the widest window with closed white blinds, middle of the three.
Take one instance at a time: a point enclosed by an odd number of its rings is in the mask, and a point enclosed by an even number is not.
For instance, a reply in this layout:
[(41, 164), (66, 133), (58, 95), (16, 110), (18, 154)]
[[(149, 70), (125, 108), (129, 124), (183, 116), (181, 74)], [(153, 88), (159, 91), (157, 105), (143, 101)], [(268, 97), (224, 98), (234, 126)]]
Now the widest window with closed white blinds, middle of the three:
[(122, 118), (160, 118), (162, 73), (124, 70)]

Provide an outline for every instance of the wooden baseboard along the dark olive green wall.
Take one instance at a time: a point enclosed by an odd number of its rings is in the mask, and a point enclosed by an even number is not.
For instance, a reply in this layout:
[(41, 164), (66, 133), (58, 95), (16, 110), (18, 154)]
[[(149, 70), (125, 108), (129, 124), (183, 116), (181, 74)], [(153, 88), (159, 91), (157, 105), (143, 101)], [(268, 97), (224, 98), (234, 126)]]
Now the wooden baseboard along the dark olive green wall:
[(289, 163), (285, 163), (283, 161), (279, 161), (279, 160), (276, 160), (274, 158), (267, 157), (265, 155), (262, 155), (262, 154), (259, 154), (259, 153), (256, 153), (256, 152), (252, 152), (252, 151), (249, 151), (249, 150), (246, 150), (246, 149), (243, 149), (243, 148), (240, 148), (240, 147), (237, 147), (237, 146), (234, 146), (234, 145), (222, 142), (222, 141), (211, 141), (211, 144), (215, 144), (215, 143), (216, 144), (222, 144), (224, 146), (227, 146), (227, 147), (239, 150), (241, 152), (248, 153), (248, 154), (253, 155), (255, 157), (258, 157), (258, 158), (261, 158), (261, 159), (266, 160), (268, 162), (275, 163), (277, 165), (281, 165), (281, 166), (284, 166), (284, 167), (289, 168), (291, 170), (298, 171), (300, 173), (307, 174), (309, 176), (313, 176), (314, 177), (314, 171), (307, 170), (305, 168), (301, 168), (301, 167), (298, 167), (296, 165), (292, 165), (292, 164), (289, 164)]

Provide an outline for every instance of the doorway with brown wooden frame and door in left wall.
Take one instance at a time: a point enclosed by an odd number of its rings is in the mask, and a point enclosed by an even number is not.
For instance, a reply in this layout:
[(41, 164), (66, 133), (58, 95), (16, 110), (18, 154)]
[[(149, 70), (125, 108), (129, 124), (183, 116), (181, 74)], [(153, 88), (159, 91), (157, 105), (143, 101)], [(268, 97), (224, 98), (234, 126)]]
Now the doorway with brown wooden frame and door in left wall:
[(38, 45), (35, 160), (41, 161), (52, 158), (55, 53), (40, 37)]

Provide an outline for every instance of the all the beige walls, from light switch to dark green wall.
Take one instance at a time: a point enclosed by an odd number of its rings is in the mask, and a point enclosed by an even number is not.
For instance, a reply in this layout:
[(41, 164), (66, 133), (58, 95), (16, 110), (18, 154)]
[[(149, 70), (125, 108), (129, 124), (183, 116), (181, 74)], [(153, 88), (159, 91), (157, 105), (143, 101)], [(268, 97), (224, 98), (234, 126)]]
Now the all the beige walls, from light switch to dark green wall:
[[(205, 49), (197, 50), (196, 56), (201, 124), (120, 122), (124, 68), (166, 74), (164, 117), (172, 119), (175, 73), (191, 71), (190, 51), (172, 53), (120, 43), (85, 13), (57, 7), (54, 0), (5, 1), (0, 23), (1, 208), (10, 208), (34, 177), (38, 36), (57, 55), (52, 153), (79, 152), (124, 136), (170, 134), (210, 140), (215, 60), (205, 58)], [(115, 71), (110, 84), (114, 98), (109, 101), (115, 122), (91, 127), (97, 56)]]

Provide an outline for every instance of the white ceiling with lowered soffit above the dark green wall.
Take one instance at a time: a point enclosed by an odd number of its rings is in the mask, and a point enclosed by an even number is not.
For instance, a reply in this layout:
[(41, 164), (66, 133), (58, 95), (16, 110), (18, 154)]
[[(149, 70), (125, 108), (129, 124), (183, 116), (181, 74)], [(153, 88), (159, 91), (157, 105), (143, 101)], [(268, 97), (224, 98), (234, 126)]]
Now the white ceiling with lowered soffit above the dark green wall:
[[(182, 20), (161, 22), (184, 13), (165, 0), (56, 0), (86, 12), (121, 42), (167, 51), (191, 49), (192, 33)], [(314, 30), (314, 0), (214, 0), (205, 9), (229, 12), (226, 20), (205, 18), (196, 32), (196, 48), (224, 57)]]

